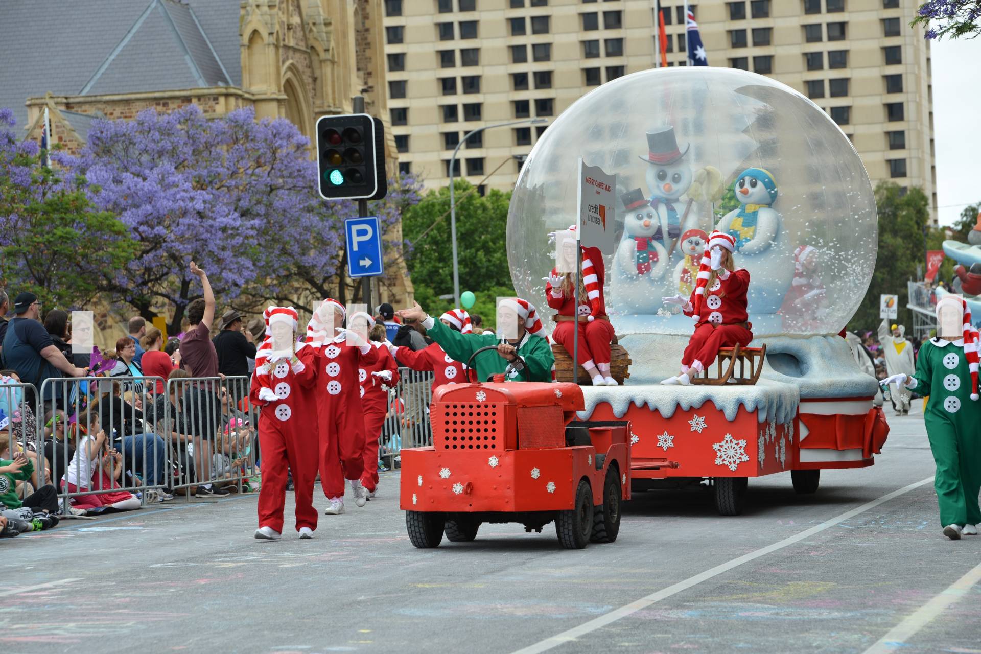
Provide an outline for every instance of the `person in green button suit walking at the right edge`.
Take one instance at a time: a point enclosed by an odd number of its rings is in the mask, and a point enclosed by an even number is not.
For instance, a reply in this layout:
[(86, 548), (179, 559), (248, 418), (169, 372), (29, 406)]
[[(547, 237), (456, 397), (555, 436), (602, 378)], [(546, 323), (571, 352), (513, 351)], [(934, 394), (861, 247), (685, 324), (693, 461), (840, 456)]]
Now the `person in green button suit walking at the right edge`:
[(937, 463), (934, 487), (944, 535), (977, 535), (981, 523), (981, 401), (978, 401), (978, 330), (958, 295), (937, 302), (937, 337), (920, 347), (916, 373), (886, 377), (929, 395), (923, 409)]

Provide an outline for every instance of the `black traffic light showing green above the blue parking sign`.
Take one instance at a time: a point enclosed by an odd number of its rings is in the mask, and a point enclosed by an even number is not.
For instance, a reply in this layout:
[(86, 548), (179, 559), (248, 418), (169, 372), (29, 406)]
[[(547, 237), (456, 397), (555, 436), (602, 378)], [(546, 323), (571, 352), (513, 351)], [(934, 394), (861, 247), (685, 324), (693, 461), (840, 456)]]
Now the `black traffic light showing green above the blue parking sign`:
[(381, 200), (385, 127), (368, 114), (323, 116), (317, 121), (317, 186), (325, 200)]

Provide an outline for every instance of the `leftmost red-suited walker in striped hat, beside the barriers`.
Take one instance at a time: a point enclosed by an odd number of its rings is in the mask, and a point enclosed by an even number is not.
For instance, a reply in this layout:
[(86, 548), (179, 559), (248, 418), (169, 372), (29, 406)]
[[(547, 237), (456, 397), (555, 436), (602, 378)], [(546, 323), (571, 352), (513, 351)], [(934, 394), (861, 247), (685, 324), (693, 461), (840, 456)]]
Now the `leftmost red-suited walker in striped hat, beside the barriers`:
[(255, 537), (278, 540), (283, 532), (287, 470), (292, 471), (296, 529), (312, 538), (317, 528), (313, 484), (319, 440), (314, 399), (313, 351), (296, 341), (298, 316), (292, 307), (269, 307), (263, 314), (266, 337), (256, 352), (249, 401), (259, 406), (262, 486)]

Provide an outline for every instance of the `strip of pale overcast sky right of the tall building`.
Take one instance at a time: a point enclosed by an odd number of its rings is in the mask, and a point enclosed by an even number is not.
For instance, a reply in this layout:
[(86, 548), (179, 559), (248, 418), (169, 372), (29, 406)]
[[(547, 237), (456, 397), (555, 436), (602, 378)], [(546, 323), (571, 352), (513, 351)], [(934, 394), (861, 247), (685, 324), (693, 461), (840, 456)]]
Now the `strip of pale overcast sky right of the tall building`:
[(981, 37), (930, 46), (937, 216), (951, 225), (981, 201)]

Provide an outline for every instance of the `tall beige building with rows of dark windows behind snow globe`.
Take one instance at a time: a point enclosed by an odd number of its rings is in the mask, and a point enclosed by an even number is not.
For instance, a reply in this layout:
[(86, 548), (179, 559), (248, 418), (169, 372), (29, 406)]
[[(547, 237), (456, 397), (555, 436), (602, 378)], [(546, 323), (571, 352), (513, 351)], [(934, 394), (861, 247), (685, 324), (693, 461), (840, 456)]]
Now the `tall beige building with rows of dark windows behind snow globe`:
[[(917, 4), (700, 0), (691, 8), (709, 65), (799, 90), (849, 135), (873, 184), (919, 186), (936, 206), (929, 42), (908, 26)], [(668, 65), (686, 61), (681, 0), (386, 0), (385, 10), (399, 168), (431, 187), (448, 183), (453, 148), (470, 130), (551, 121), (595, 86), (657, 65), (655, 11)], [(545, 128), (476, 134), (454, 175), (513, 187)]]

